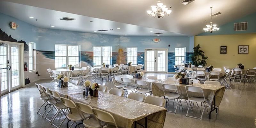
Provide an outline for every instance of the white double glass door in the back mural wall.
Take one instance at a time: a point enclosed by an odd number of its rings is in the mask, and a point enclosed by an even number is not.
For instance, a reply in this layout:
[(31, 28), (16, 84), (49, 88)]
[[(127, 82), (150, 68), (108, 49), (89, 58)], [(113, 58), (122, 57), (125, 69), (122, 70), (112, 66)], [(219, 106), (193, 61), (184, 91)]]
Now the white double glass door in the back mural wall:
[(145, 70), (147, 73), (167, 73), (168, 49), (145, 49)]

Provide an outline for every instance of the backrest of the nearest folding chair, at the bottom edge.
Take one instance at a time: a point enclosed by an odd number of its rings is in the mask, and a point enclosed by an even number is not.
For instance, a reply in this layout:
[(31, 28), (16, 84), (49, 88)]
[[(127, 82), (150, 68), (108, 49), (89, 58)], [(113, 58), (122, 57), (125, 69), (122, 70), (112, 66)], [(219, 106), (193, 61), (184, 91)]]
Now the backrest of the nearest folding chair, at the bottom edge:
[(113, 124), (115, 124), (116, 128), (118, 128), (116, 125), (115, 118), (110, 113), (102, 111), (97, 108), (92, 108), (92, 111), (93, 111), (94, 116), (96, 118), (98, 118), (99, 120), (108, 122), (108, 123), (113, 123)]

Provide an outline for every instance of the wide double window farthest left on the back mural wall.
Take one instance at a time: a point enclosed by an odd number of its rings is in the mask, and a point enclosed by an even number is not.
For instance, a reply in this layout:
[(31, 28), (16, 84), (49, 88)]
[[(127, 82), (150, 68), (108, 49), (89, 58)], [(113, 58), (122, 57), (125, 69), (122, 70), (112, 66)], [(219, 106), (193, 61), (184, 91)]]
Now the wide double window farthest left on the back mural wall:
[(55, 45), (55, 68), (80, 66), (80, 45)]

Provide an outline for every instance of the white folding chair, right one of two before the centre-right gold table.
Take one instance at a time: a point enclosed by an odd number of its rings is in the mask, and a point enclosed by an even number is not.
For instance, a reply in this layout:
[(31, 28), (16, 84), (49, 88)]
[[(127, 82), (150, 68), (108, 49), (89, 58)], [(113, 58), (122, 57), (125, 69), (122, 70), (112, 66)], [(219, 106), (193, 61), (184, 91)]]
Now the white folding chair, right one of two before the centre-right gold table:
[[(189, 106), (190, 106), (190, 108), (191, 108), (191, 110), (192, 110), (192, 113), (193, 113), (193, 106), (191, 106), (191, 105), (192, 105), (192, 102), (193, 102), (193, 104), (194, 104), (195, 102), (201, 102), (201, 107), (202, 107), (202, 103), (204, 103), (204, 109), (206, 108), (206, 111), (207, 111), (207, 114), (208, 114), (208, 109), (207, 109), (207, 106), (206, 106), (206, 100), (207, 100), (207, 99), (204, 97), (204, 90), (203, 90), (201, 87), (190, 86), (190, 85), (187, 85), (187, 86), (185, 87), (185, 89), (186, 89), (186, 92), (187, 92), (187, 96), (188, 96), (188, 100), (189, 100)], [(194, 97), (194, 95), (193, 95), (191, 92), (197, 93), (197, 94), (195, 94), (196, 96), (198, 95), (198, 93), (201, 93), (201, 95), (203, 95), (204, 98), (201, 98), (201, 97)], [(200, 111), (201, 111), (201, 107), (200, 107)], [(195, 109), (195, 108), (194, 108), (194, 109)], [(186, 116), (188, 116), (188, 117), (193, 117), (193, 118), (202, 120), (202, 117), (203, 117), (203, 115), (204, 115), (204, 109), (203, 109), (203, 112), (202, 112), (202, 115), (201, 115), (200, 118), (195, 117), (195, 116), (189, 116), (189, 115), (188, 115), (189, 108), (188, 108), (188, 111), (187, 111)], [(209, 114), (208, 114), (208, 116), (209, 116)]]

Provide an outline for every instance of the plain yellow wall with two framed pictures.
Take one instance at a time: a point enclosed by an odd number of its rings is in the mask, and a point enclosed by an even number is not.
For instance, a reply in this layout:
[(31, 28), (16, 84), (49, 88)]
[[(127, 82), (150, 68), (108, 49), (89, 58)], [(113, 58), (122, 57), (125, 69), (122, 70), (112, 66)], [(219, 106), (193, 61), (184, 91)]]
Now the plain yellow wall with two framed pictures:
[[(197, 44), (208, 56), (207, 66), (223, 69), (242, 63), (244, 68), (256, 67), (256, 34), (195, 36)], [(249, 45), (249, 54), (238, 54), (238, 45)], [(227, 46), (227, 54), (220, 54), (220, 46)]]

